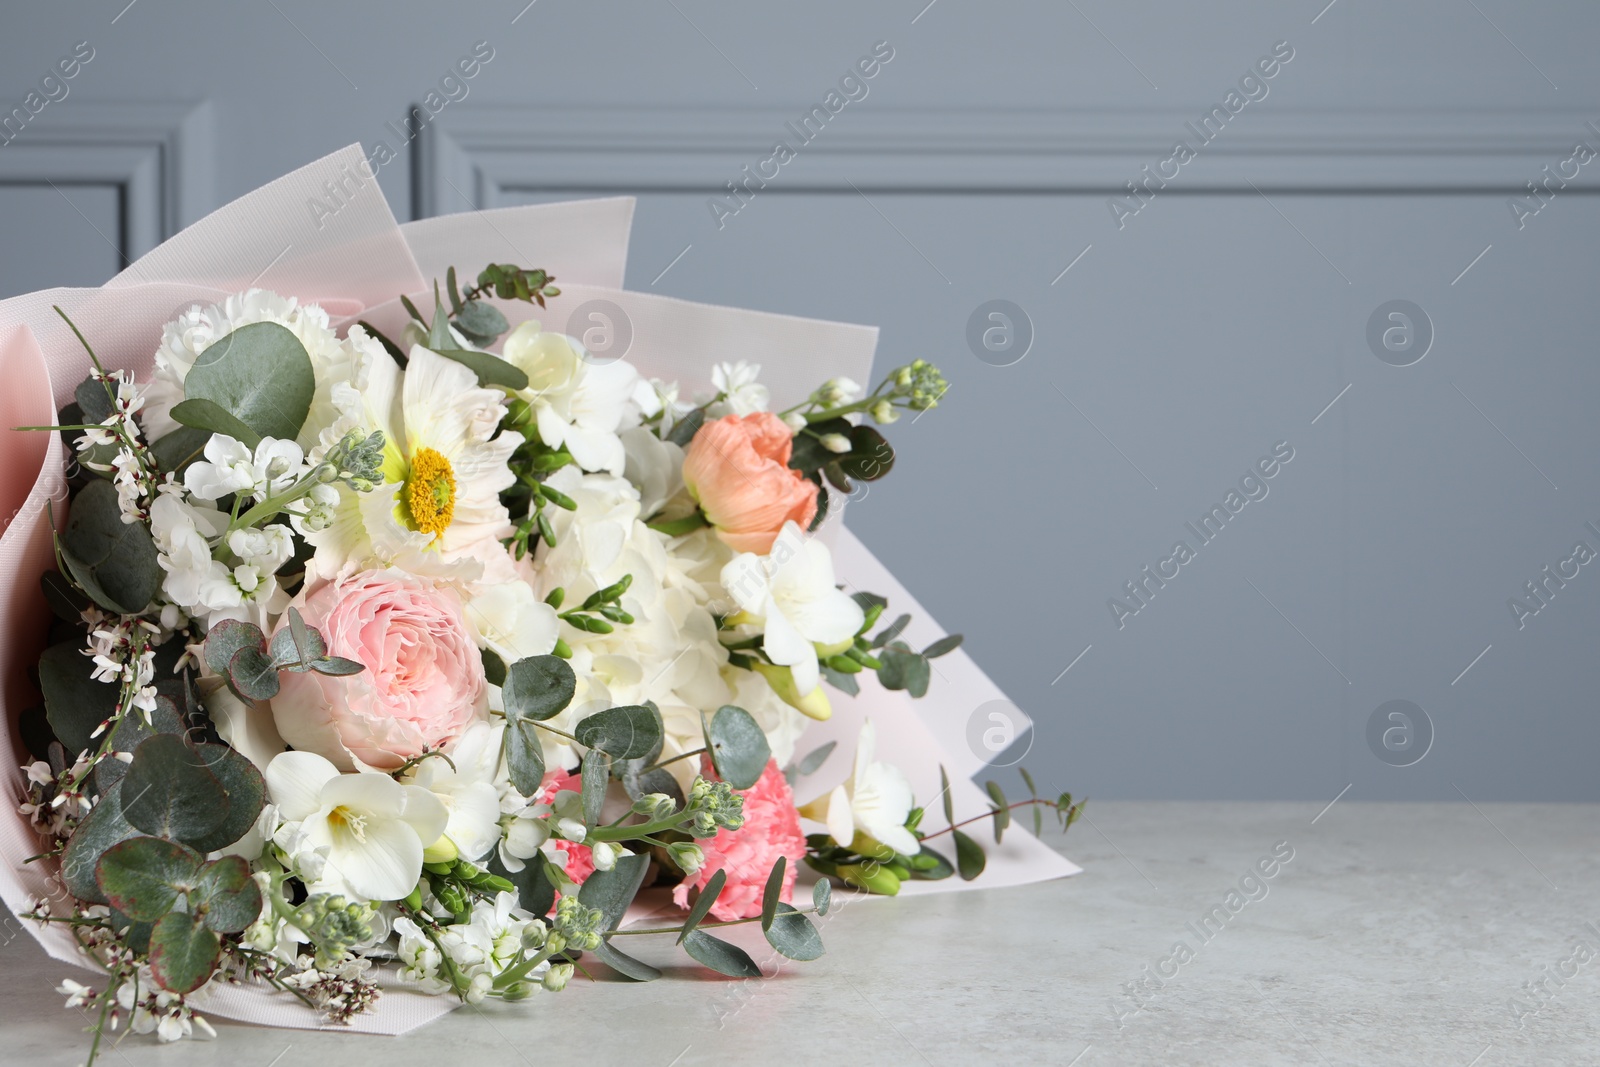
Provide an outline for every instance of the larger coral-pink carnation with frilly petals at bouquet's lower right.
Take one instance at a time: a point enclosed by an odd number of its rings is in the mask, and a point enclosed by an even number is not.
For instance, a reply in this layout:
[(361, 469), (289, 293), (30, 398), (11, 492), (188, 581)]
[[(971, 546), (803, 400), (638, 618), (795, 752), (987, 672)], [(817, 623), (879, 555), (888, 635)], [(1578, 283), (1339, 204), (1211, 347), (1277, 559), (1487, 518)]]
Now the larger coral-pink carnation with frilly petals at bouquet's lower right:
[[(710, 777), (710, 768), (706, 768), (704, 774)], [(779, 856), (789, 857), (779, 899), (787, 904), (794, 896), (795, 869), (805, 859), (805, 835), (800, 832), (800, 813), (795, 811), (794, 793), (789, 792), (789, 781), (778, 769), (778, 761), (770, 760), (755, 785), (741, 795), (744, 825), (738, 830), (717, 830), (717, 837), (699, 841), (706, 864), (698, 875), (686, 878), (672, 891), (678, 907), (688, 907), (690, 886), (704, 889), (710, 877), (723, 870), (728, 883), (710, 905), (712, 917), (728, 921), (760, 915), (762, 891)]]

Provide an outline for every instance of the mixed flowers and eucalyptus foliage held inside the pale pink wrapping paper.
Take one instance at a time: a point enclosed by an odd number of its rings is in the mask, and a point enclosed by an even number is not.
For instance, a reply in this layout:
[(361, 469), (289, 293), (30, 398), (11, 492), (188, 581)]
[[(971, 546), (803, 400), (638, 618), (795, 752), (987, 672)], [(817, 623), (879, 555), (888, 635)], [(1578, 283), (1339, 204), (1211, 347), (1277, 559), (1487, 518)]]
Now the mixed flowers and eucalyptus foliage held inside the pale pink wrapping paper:
[[(1077, 814), (990, 784), (958, 822), (941, 766), (930, 832), (874, 717), (848, 777), (795, 800), (840, 741), (798, 747), (830, 691), (922, 697), (960, 645), (846, 592), (824, 528), (894, 466), (882, 429), (938, 405), (933, 365), (781, 406), (730, 360), (691, 395), (547, 328), (558, 264), (461, 266), (354, 315), (256, 286), (181, 306), (146, 373), (54, 307), (82, 355), (48, 358), (88, 371), (16, 430), (64, 461), (19, 811), (48, 867), (26, 915), (102, 971), (61, 985), (96, 1049), (210, 1032), (197, 1009), (250, 987), (349, 1024), (379, 974), (470, 1003), (589, 961), (659, 977), (618, 945), (638, 933), (758, 977), (710, 931), (813, 960), (835, 880), (971, 880), (958, 825)], [(629, 928), (650, 886), (680, 913)]]

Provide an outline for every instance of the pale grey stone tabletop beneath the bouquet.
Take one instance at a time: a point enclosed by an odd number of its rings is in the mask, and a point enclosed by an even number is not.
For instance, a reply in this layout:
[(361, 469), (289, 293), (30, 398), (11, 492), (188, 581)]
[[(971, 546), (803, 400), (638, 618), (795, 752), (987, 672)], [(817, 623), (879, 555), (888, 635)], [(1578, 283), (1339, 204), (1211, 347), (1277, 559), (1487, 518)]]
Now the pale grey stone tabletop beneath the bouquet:
[[(669, 965), (651, 985), (574, 981), (403, 1038), (219, 1022), (102, 1062), (1600, 1064), (1597, 806), (1320, 808), (1093, 803), (1046, 829), (1082, 875), (853, 901), (827, 955), (773, 981), (704, 977), (662, 937), (638, 950)], [(0, 1061), (82, 1062), (69, 969), (6, 937)]]

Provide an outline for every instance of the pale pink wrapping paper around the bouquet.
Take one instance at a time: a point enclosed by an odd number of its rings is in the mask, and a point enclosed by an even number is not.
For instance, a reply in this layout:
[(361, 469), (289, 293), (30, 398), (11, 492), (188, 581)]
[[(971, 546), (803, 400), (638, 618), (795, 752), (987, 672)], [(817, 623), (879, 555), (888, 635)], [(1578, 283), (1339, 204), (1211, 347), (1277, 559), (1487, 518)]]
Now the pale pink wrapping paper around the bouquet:
[[(38, 699), (27, 669), (42, 651), (46, 608), (38, 576), (53, 566), (51, 517), (64, 517), (61, 474), (66, 448), (58, 434), (11, 427), (48, 426), (90, 370), (90, 360), (64, 322), (61, 306), (83, 330), (101, 362), (149, 374), (162, 326), (194, 302), (216, 302), (250, 288), (270, 288), (322, 304), (344, 323), (366, 318), (398, 333), (405, 312), (395, 299), (406, 293), (430, 309), (432, 280), (448, 266), (475, 272), (486, 262), (518, 262), (552, 270), (562, 288), (546, 312), (498, 302), (512, 323), (538, 317), (546, 328), (566, 330), (566, 315), (586, 301), (608, 301), (627, 317), (634, 342), (626, 358), (648, 376), (677, 379), (686, 392), (709, 384), (717, 362), (750, 360), (778, 406), (803, 398), (821, 381), (848, 376), (870, 381), (877, 330), (766, 312), (712, 307), (650, 293), (621, 290), (634, 202), (586, 200), (398, 226), (378, 184), (360, 176), (360, 147), (317, 160), (206, 216), (149, 253), (99, 290), (46, 290), (0, 301), (0, 699), (8, 729), (0, 731), (0, 765), (13, 768), (8, 811), (0, 814), (0, 899), (24, 912), (38, 897), (59, 896), (48, 872), (22, 861), (38, 851), (38, 838), (16, 813), (26, 752), (16, 734), (22, 707)], [(342, 206), (330, 218), (309, 208), (326, 197), (328, 182), (344, 189)], [(326, 202), (325, 202), (326, 203)], [(390, 334), (394, 336), (394, 334)], [(840, 577), (880, 592), (896, 611), (910, 611), (912, 637), (931, 640), (933, 622), (893, 574), (838, 520), (824, 526)], [(811, 792), (848, 774), (854, 734), (864, 717), (878, 723), (880, 758), (899, 765), (918, 798), (936, 808), (939, 765), (952, 771), (957, 817), (987, 809), (966, 774), (979, 760), (966, 750), (963, 729), (971, 709), (997, 699), (1000, 689), (963, 651), (938, 661), (930, 696), (915, 704), (875, 685), (850, 699), (835, 696), (835, 717), (816, 725), (803, 742), (838, 739), (827, 766), (806, 779)], [(990, 851), (989, 867), (973, 883), (958, 880), (907, 883), (907, 893), (938, 893), (1038, 881), (1078, 869), (1021, 829)], [(88, 966), (62, 926), (27, 923), (56, 960)], [(453, 998), (426, 997), (386, 985), (378, 1009), (349, 1029), (362, 1033), (405, 1033), (456, 1006)], [(275, 1027), (322, 1029), (317, 1013), (259, 987), (224, 987), (197, 1003), (203, 1014)]]

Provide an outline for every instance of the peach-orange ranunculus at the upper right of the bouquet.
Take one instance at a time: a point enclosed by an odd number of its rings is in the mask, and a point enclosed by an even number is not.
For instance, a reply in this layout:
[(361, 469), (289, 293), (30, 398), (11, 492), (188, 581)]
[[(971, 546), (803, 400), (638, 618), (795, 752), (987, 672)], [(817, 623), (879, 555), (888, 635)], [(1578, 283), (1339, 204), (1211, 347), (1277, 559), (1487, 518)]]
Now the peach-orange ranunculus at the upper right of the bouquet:
[(717, 536), (738, 552), (765, 555), (786, 522), (816, 518), (816, 486), (789, 469), (794, 435), (776, 414), (728, 414), (707, 422), (683, 458), (683, 485)]

